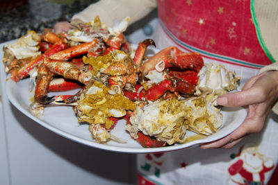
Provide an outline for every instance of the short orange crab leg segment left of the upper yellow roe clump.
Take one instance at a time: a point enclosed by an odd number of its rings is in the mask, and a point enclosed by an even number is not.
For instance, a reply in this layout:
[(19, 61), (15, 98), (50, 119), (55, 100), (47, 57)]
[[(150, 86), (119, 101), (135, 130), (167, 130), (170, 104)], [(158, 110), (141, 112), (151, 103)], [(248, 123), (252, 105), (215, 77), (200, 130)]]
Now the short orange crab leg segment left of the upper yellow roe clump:
[(54, 60), (69, 60), (70, 58), (88, 53), (89, 49), (92, 47), (98, 48), (99, 46), (99, 40), (96, 38), (92, 42), (85, 42), (83, 44), (64, 49), (63, 51), (51, 55), (49, 58)]

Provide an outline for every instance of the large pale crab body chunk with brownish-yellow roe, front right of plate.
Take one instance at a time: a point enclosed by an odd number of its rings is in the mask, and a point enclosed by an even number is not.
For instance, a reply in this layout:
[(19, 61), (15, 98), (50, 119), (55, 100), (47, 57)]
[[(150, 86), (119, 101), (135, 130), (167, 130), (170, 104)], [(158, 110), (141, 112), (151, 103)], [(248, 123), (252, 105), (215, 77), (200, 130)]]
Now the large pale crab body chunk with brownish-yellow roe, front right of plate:
[[(213, 100), (211, 102), (211, 100)], [(213, 97), (194, 97), (186, 100), (161, 100), (136, 109), (126, 130), (135, 139), (138, 132), (154, 136), (158, 141), (184, 143), (186, 130), (212, 134), (222, 124), (220, 110), (213, 106)]]

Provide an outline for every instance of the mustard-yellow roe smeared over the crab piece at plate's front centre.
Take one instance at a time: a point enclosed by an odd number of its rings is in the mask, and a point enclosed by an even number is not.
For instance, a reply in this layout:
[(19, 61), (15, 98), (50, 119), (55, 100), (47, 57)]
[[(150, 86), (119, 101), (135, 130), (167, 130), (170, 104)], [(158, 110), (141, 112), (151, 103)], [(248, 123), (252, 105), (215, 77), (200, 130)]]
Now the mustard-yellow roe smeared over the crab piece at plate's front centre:
[[(77, 105), (79, 122), (88, 122), (90, 124), (104, 124), (109, 129), (114, 121), (109, 117), (114, 116), (109, 112), (111, 109), (120, 111), (136, 109), (136, 103), (125, 98), (122, 94), (110, 94), (111, 90), (100, 82), (92, 82), (92, 85), (99, 90), (95, 94), (88, 94), (88, 90), (81, 94)], [(91, 85), (88, 85), (90, 89)]]

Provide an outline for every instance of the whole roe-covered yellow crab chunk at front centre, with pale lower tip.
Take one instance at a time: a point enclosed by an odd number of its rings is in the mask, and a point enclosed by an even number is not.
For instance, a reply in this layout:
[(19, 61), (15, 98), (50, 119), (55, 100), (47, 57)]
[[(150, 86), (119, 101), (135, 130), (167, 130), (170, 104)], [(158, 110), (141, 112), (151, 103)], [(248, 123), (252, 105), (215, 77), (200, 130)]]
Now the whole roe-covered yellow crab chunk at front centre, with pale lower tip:
[[(114, 125), (114, 121), (110, 119), (111, 116), (120, 118), (126, 115), (126, 110), (136, 109), (136, 103), (121, 94), (116, 94), (115, 91), (97, 81), (91, 81), (82, 91), (77, 104), (76, 114), (79, 123), (89, 123), (94, 128), (101, 124), (106, 130)], [(91, 131), (94, 131), (93, 137), (97, 136), (96, 130)], [(97, 142), (107, 141), (106, 137), (97, 136), (97, 138), (100, 138), (100, 140), (97, 139)]]

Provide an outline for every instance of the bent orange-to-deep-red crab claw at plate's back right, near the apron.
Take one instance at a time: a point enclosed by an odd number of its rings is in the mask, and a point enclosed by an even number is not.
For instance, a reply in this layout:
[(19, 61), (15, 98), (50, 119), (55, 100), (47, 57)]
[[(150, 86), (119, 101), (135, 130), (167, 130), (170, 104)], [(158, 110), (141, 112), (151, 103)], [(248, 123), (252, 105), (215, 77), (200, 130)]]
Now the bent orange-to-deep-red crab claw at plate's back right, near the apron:
[(142, 64), (139, 81), (143, 82), (148, 73), (154, 73), (154, 69), (158, 72), (167, 69), (167, 78), (173, 80), (175, 91), (183, 96), (190, 96), (195, 92), (197, 74), (203, 66), (204, 61), (199, 53), (184, 53), (175, 46), (170, 46)]

